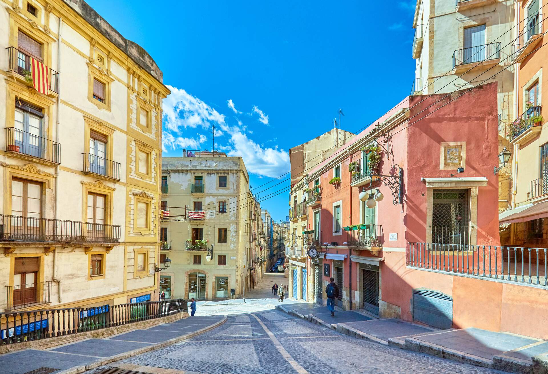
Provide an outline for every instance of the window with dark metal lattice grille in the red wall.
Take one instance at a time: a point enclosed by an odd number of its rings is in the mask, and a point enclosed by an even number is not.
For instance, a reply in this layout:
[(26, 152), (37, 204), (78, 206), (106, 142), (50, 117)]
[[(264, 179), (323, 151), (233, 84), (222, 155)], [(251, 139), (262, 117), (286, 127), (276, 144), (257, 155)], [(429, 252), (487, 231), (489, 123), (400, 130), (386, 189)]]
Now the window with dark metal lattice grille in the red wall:
[(469, 190), (435, 189), (432, 204), (432, 243), (468, 244)]

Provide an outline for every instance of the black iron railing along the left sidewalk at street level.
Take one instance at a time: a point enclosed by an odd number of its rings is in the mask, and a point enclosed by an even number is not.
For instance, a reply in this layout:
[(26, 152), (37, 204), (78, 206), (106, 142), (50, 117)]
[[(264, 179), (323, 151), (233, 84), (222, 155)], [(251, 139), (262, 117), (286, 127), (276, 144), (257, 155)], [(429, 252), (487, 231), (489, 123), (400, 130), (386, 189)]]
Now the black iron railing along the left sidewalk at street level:
[(175, 299), (0, 313), (0, 338), (4, 344), (20, 343), (127, 325), (187, 310), (186, 300)]

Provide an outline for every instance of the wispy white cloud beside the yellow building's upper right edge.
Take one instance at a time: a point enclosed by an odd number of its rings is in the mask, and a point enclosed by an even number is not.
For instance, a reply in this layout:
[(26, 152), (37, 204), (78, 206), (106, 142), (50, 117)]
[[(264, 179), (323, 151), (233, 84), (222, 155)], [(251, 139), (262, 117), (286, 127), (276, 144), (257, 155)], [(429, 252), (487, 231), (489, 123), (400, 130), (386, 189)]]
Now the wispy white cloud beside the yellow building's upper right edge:
[(164, 123), (167, 129), (180, 133), (182, 128), (210, 128), (210, 124), (224, 124), (225, 116), (184, 89), (167, 86), (172, 93), (163, 101)]

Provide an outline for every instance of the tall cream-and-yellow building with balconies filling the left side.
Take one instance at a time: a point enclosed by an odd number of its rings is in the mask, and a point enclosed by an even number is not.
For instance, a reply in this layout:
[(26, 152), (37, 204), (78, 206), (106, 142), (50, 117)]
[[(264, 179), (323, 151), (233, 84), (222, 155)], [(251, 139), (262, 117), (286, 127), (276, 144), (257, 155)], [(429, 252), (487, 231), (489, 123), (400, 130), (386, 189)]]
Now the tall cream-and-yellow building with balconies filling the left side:
[(84, 1), (0, 5), (0, 310), (157, 300), (162, 72)]

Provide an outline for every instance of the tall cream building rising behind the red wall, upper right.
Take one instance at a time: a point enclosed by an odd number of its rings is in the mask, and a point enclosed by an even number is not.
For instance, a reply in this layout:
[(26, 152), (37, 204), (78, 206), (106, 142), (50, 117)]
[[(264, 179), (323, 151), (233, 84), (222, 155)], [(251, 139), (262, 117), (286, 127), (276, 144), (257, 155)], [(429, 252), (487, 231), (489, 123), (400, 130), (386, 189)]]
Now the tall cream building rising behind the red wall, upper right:
[[(418, 0), (413, 20), (415, 77), (411, 94), (443, 94), (497, 82), (498, 111), (486, 116), (499, 118), (500, 151), (511, 149), (506, 139), (516, 118), (516, 69), (511, 65), (519, 49), (518, 31), (522, 33), (526, 26), (516, 27), (516, 3)], [(511, 203), (510, 164), (499, 175), (499, 210), (508, 209)]]

